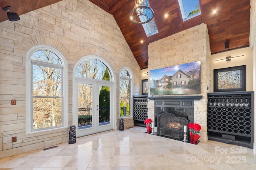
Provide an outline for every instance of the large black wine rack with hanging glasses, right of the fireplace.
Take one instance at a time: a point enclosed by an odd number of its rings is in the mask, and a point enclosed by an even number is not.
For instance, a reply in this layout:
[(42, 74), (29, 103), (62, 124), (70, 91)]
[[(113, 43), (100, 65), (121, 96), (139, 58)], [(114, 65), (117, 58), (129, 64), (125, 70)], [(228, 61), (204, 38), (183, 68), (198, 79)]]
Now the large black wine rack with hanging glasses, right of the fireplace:
[(208, 139), (250, 147), (254, 143), (254, 92), (208, 93)]

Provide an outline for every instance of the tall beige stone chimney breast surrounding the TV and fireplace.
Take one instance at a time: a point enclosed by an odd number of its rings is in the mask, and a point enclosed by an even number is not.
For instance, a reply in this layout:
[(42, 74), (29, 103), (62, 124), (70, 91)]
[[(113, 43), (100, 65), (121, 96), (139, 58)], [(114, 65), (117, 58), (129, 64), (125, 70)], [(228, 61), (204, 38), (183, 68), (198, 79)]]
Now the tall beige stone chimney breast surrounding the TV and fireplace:
[[(211, 84), (211, 52), (207, 25), (202, 23), (148, 46), (148, 70), (195, 61), (201, 61), (201, 94), (192, 96), (200, 95), (203, 98), (194, 102), (194, 122), (202, 127), (201, 140), (207, 141), (207, 87), (210, 89)], [(154, 119), (154, 100), (148, 100), (148, 117)]]

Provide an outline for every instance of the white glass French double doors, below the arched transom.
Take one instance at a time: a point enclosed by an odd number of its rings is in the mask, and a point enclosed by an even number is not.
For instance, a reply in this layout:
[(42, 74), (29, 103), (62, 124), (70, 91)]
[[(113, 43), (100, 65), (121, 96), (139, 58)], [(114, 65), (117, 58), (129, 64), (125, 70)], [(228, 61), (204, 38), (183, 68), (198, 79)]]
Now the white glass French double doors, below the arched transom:
[[(113, 129), (113, 82), (76, 78), (76, 136)], [(112, 114), (111, 114), (112, 113)]]

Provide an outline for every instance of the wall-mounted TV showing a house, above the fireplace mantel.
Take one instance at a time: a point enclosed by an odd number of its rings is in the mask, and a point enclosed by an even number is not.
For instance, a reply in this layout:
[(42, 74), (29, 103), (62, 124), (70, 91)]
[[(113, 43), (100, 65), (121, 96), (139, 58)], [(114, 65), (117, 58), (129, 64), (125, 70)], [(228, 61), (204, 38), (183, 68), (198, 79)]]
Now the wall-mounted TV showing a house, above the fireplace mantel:
[(200, 94), (200, 65), (197, 61), (150, 70), (150, 95)]

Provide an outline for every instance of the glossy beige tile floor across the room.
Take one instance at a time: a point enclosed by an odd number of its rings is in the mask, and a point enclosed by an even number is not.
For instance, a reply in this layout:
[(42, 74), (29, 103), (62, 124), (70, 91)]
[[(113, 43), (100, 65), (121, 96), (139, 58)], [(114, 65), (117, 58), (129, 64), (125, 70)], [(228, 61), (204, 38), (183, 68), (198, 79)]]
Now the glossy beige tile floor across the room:
[(144, 127), (108, 131), (0, 159), (0, 170), (256, 170), (252, 149), (207, 141), (193, 145)]

